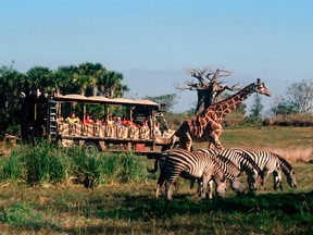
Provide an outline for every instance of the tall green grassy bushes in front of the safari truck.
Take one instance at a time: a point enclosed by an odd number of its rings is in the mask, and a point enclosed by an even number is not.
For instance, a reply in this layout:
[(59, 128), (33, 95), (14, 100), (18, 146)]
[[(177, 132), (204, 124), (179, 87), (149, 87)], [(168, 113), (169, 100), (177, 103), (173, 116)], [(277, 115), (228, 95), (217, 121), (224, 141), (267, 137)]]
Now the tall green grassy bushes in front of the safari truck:
[[(85, 187), (109, 182), (129, 183), (146, 178), (146, 168), (134, 152), (101, 153), (80, 147), (60, 148), (42, 140), (16, 148), (0, 165), (2, 181), (59, 184), (73, 180)], [(145, 177), (143, 177), (145, 176)]]

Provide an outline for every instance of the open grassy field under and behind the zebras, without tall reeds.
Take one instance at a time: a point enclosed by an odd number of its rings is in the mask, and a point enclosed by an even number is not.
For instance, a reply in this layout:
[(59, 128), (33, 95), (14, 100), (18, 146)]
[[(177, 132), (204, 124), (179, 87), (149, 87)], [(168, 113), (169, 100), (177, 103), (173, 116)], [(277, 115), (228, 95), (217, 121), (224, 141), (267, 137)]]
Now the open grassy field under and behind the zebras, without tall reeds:
[[(139, 181), (109, 181), (93, 189), (70, 182), (0, 185), (0, 234), (312, 234), (313, 128), (233, 127), (224, 147), (271, 149), (284, 154), (297, 173), (298, 188), (284, 177), (284, 190), (201, 200), (179, 180), (173, 201), (154, 198), (158, 174)], [(204, 147), (197, 144), (196, 147)], [(152, 166), (153, 160), (138, 157)]]

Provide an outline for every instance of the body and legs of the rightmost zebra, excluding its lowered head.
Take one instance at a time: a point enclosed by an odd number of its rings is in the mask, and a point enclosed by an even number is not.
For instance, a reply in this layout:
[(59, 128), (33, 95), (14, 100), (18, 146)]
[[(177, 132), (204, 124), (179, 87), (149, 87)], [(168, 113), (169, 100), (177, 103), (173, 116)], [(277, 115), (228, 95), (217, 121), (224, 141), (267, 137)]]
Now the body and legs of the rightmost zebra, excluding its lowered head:
[(264, 190), (265, 182), (271, 173), (274, 176), (274, 186), (276, 190), (278, 187), (281, 189), (281, 171), (278, 158), (268, 151), (251, 151), (242, 148), (234, 148), (233, 150), (240, 154), (248, 154), (261, 169), (261, 190)]

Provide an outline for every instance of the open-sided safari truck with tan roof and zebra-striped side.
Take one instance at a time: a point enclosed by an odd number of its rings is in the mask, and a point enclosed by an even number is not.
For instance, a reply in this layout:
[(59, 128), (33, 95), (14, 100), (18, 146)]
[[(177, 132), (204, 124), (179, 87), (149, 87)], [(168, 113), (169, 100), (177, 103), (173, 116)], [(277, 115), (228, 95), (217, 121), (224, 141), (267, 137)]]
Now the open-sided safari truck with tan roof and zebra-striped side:
[[(100, 151), (134, 151), (158, 158), (167, 147), (174, 131), (167, 127), (162, 106), (150, 100), (85, 97), (80, 95), (22, 96), (21, 135), (23, 141), (49, 138), (60, 146), (79, 145)], [(76, 113), (77, 123), (66, 122)], [(87, 113), (93, 122), (84, 122)], [(129, 125), (109, 123), (112, 116), (132, 120)], [(143, 121), (148, 125), (143, 125)], [(155, 124), (160, 129), (155, 129)]]

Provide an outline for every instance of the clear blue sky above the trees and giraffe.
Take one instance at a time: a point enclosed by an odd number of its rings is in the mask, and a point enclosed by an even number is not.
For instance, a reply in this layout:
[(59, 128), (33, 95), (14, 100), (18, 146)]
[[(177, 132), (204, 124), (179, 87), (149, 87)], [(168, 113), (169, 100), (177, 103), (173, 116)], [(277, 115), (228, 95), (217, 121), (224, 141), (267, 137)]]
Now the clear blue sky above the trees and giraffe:
[(188, 69), (225, 69), (228, 84), (261, 77), (270, 106), (313, 77), (312, 12), (311, 0), (0, 0), (0, 65), (100, 62), (134, 97), (178, 92), (176, 111), (197, 100), (174, 87)]

